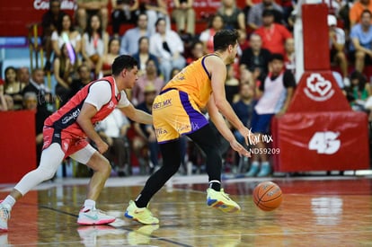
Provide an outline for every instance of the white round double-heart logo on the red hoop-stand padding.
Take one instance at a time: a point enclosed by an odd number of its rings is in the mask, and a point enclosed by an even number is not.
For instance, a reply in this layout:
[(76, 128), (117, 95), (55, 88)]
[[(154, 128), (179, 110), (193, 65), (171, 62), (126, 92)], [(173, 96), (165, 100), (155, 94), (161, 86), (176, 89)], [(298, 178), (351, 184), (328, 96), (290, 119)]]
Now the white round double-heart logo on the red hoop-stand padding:
[(313, 73), (306, 79), (304, 93), (313, 101), (327, 101), (334, 94), (332, 83), (319, 73)]

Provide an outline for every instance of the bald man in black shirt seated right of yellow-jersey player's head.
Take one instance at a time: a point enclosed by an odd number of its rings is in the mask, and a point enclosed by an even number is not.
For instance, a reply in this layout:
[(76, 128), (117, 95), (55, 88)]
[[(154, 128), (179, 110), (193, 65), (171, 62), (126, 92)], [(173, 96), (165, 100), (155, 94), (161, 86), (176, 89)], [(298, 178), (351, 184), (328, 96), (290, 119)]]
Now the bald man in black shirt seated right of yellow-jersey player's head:
[(261, 74), (267, 74), (271, 53), (269, 49), (262, 48), (261, 36), (252, 33), (249, 38), (249, 45), (250, 47), (244, 49), (242, 57), (240, 57), (240, 70), (247, 69), (254, 73), (256, 78)]

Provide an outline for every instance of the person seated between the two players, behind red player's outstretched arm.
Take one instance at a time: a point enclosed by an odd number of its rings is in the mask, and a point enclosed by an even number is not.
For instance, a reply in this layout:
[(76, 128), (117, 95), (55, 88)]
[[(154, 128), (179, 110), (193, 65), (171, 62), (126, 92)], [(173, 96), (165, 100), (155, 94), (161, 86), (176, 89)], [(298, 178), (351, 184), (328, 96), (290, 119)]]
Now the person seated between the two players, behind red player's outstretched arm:
[[(158, 91), (154, 84), (148, 83), (144, 89), (145, 101), (137, 105), (138, 110), (143, 110), (151, 114), (153, 109), (153, 102)], [(134, 123), (134, 128), (136, 130), (137, 136), (139, 138), (135, 139), (135, 153), (137, 157), (140, 156), (140, 150), (143, 150), (144, 146), (147, 146), (150, 153), (150, 162), (148, 163), (149, 172), (153, 173), (155, 168), (158, 166), (158, 155), (160, 152), (159, 146), (156, 141), (155, 129), (152, 125), (145, 125)], [(142, 164), (143, 165), (143, 164)]]

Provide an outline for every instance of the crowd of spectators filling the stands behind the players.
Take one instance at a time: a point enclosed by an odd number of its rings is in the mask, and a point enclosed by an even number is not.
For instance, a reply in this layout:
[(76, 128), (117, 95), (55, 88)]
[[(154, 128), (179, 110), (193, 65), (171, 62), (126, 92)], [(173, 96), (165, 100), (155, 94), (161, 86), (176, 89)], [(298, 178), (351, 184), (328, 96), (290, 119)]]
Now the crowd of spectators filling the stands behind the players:
[[(49, 11), (40, 20), (45, 66), (33, 71), (27, 67), (6, 67), (0, 82), (0, 110), (35, 110), (38, 154), (44, 119), (85, 84), (111, 75), (115, 57), (128, 54), (137, 59), (139, 78), (136, 86), (127, 92), (128, 98), (137, 108), (151, 113), (155, 95), (164, 84), (184, 66), (213, 52), (213, 36), (222, 29), (235, 29), (240, 33), (238, 57), (229, 66), (226, 78), (226, 98), (239, 118), (250, 127), (257, 109), (276, 115), (285, 113), (296, 88), (293, 76), (296, 72), (293, 39), (296, 3), (246, 0), (244, 6), (238, 6), (235, 0), (221, 0), (220, 7), (208, 20), (199, 20), (192, 8), (193, 0), (173, 0), (172, 9), (167, 4), (164, 0), (111, 0), (110, 3), (76, 0), (77, 9), (70, 15), (60, 9), (60, 1), (49, 1)], [(368, 72), (372, 71), (372, 1), (332, 1), (329, 10), (333, 75), (352, 109), (369, 114), (372, 109), (372, 72)], [(200, 21), (205, 22), (205, 29), (196, 31)], [(45, 73), (48, 72), (55, 78), (55, 88), (46, 86)], [(287, 100), (281, 102), (279, 110), (275, 110), (279, 101), (261, 101), (265, 98), (268, 80), (279, 80), (286, 89)], [(105, 155), (119, 175), (129, 175), (133, 162), (138, 163), (143, 174), (154, 172), (160, 165), (161, 155), (151, 126), (131, 123), (120, 111), (114, 111), (97, 131), (111, 146)], [(236, 137), (243, 142), (242, 137)], [(187, 158), (182, 172), (188, 170), (188, 163), (202, 171), (203, 154), (198, 148), (188, 145), (185, 139), (183, 149)], [(226, 171), (234, 171), (240, 162), (230, 151), (223, 150)], [(261, 166), (269, 163), (270, 157), (253, 157), (252, 163), (258, 165), (259, 158)], [(271, 172), (270, 168), (261, 172), (257, 168), (247, 175), (267, 176)]]

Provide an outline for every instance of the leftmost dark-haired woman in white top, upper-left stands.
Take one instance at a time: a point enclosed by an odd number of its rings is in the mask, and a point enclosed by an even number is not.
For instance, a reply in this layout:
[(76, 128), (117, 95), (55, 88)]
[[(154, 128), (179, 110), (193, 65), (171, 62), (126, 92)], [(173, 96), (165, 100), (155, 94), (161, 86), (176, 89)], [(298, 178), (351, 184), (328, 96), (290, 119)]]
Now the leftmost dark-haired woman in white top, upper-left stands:
[(79, 54), (82, 49), (82, 36), (78, 31), (75, 31), (72, 24), (71, 16), (65, 14), (62, 17), (61, 22), (57, 24), (57, 30), (52, 33), (52, 46), (54, 55), (56, 57), (62, 54), (62, 45), (69, 42), (75, 49), (75, 53)]

